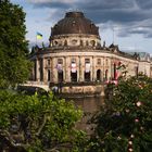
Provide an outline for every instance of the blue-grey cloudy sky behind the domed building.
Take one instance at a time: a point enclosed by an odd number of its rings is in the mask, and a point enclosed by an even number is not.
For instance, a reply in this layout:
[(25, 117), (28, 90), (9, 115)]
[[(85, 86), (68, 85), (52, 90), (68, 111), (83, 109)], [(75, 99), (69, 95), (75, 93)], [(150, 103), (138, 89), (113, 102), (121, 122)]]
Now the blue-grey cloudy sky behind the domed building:
[[(26, 12), (27, 39), (36, 43), (36, 33), (49, 42), (51, 27), (68, 11), (83, 11), (99, 26), (101, 42), (121, 50), (152, 54), (152, 0), (11, 0)], [(114, 35), (114, 38), (113, 38)]]

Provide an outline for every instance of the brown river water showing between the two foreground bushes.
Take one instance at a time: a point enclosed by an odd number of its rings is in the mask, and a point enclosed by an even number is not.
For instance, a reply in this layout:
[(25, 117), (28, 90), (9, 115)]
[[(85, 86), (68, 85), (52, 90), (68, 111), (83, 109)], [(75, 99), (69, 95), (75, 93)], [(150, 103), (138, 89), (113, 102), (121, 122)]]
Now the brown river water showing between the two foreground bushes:
[(84, 117), (77, 124), (77, 128), (85, 130), (88, 135), (91, 134), (92, 126), (87, 124), (87, 122), (98, 110), (100, 110), (100, 106), (103, 104), (103, 98), (81, 98), (73, 99), (73, 101), (76, 104), (76, 106), (80, 107), (84, 111)]

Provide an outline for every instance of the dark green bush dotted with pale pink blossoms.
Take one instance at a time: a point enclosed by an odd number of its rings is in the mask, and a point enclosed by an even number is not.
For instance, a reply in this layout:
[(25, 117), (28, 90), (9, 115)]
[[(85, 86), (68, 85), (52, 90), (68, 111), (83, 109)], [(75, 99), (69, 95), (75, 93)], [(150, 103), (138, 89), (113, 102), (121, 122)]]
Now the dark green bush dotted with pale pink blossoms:
[(98, 152), (151, 152), (152, 78), (121, 80), (113, 96), (92, 117), (96, 124), (89, 150)]

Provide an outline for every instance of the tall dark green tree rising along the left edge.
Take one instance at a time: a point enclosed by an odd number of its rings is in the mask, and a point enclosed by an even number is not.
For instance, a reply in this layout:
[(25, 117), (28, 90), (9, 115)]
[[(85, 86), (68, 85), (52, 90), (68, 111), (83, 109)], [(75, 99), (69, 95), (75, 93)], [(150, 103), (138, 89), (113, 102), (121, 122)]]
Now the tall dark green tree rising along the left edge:
[(0, 1), (0, 87), (14, 86), (29, 77), (24, 23), (22, 8), (9, 0)]

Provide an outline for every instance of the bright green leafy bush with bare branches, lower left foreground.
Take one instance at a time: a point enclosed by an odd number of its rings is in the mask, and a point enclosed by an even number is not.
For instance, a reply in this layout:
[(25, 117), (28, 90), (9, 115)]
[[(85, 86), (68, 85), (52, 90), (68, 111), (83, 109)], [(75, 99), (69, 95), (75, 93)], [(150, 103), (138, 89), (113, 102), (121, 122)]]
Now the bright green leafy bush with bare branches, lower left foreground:
[[(39, 97), (0, 91), (0, 151), (80, 151), (85, 134), (75, 129), (81, 111), (52, 93)], [(2, 140), (3, 139), (3, 140)]]

